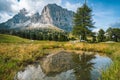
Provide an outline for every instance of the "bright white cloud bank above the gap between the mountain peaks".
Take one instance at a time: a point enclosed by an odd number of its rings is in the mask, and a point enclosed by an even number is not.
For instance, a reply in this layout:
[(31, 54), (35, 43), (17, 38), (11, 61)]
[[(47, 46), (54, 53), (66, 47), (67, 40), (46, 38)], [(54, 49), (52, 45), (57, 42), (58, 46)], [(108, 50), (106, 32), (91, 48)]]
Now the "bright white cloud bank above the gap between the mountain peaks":
[[(13, 7), (16, 10), (20, 10), (22, 8), (27, 9), (28, 11), (39, 11), (41, 12), (41, 10), (43, 9), (43, 7), (47, 4), (50, 3), (56, 3), (56, 4), (61, 4), (61, 0), (21, 0), (20, 2), (18, 2), (15, 7)], [(18, 6), (18, 7), (17, 7)]]

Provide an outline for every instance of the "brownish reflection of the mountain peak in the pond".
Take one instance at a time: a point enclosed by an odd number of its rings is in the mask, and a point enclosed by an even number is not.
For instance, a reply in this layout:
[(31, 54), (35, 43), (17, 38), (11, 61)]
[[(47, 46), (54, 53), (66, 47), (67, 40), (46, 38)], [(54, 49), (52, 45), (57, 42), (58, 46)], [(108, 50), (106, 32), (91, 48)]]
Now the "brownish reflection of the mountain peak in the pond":
[(72, 69), (73, 66), (73, 54), (65, 51), (49, 55), (41, 63), (41, 67), (47, 75)]

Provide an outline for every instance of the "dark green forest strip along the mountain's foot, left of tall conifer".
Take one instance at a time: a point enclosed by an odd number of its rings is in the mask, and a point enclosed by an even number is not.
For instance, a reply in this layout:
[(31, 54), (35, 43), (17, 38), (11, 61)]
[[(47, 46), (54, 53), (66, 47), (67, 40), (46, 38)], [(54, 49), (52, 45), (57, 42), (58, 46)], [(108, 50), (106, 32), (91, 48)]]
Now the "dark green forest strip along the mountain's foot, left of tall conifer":
[(31, 40), (68, 41), (68, 33), (52, 29), (32, 30), (0, 30), (2, 34), (10, 34)]

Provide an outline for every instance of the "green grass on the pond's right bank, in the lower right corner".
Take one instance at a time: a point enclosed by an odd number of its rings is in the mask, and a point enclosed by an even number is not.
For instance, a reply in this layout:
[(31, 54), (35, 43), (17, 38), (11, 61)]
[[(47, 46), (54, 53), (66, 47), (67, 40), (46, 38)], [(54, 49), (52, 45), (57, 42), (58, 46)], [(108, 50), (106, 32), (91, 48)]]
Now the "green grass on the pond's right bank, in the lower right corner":
[(117, 50), (117, 48), (120, 48), (119, 46), (116, 44), (116, 51), (110, 55), (113, 64), (106, 71), (102, 72), (102, 80), (120, 80), (120, 49)]

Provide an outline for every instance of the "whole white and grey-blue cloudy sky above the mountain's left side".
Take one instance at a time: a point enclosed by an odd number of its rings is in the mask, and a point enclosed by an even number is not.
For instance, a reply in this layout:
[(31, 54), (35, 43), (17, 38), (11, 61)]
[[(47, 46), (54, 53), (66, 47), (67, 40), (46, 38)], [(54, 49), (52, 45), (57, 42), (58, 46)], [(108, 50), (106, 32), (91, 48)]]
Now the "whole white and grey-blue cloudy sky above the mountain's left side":
[(0, 23), (5, 22), (19, 12), (27, 9), (29, 12), (41, 12), (43, 7), (50, 3), (60, 5), (62, 0), (0, 0)]

